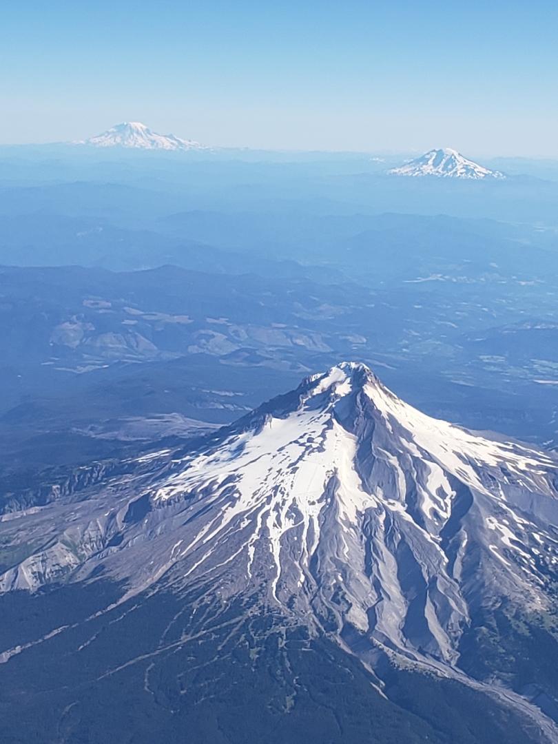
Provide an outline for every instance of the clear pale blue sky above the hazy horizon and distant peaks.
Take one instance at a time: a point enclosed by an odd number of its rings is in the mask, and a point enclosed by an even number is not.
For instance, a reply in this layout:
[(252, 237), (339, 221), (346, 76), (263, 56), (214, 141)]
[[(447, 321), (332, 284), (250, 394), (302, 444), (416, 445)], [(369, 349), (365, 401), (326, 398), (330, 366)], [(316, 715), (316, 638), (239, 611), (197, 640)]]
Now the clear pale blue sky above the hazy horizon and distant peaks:
[(558, 156), (556, 0), (7, 0), (0, 142)]

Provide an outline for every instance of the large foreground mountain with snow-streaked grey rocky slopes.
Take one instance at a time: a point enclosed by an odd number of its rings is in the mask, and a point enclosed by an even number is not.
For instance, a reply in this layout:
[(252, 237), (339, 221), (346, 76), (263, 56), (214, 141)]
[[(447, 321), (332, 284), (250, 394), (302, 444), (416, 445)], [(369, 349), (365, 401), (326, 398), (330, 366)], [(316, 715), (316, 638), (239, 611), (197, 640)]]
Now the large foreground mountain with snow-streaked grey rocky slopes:
[(335, 641), (383, 695), (388, 667), (423, 670), (558, 740), (538, 691), (475, 666), (487, 615), (536, 626), (556, 606), (555, 455), (430, 418), (345, 362), (195, 445), (80, 477), (13, 496), (1, 591), (102, 575), (121, 596), (94, 617), (195, 596), (184, 638), (269, 615)]

